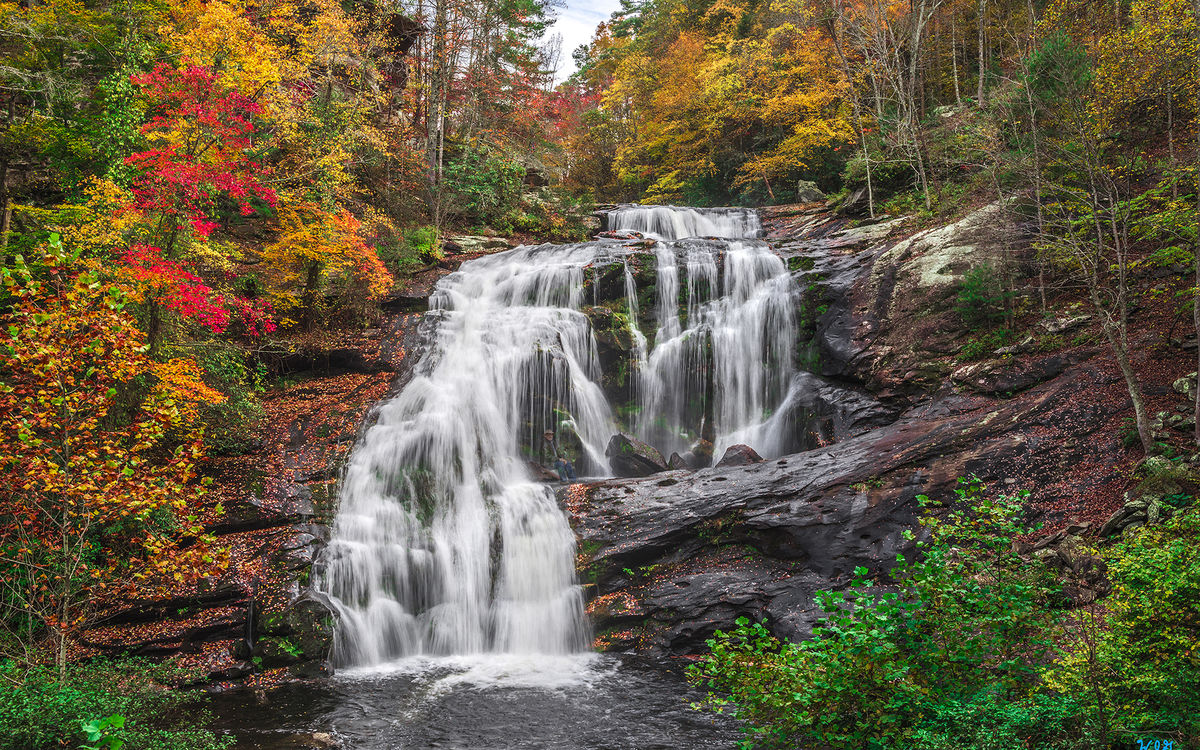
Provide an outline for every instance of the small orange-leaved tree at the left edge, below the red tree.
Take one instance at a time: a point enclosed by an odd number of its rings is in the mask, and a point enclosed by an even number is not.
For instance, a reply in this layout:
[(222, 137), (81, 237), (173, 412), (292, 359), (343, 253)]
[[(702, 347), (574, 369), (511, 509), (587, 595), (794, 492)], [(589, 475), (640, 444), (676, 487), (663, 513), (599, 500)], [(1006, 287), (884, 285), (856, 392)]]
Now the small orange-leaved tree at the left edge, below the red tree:
[(94, 596), (220, 568), (190, 512), (200, 404), (221, 395), (188, 360), (156, 362), (126, 293), (58, 238), (4, 270), (0, 338), (0, 604), (24, 648), (42, 634), (60, 673)]

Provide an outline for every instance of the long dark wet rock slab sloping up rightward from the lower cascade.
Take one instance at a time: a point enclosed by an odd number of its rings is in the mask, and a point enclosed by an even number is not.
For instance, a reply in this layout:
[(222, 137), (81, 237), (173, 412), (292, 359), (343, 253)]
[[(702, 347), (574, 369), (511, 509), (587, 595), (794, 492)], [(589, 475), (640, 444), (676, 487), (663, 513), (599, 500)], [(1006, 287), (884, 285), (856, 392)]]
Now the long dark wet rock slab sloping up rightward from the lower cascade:
[[(805, 637), (821, 616), (815, 592), (846, 586), (857, 566), (883, 574), (911, 552), (904, 532), (920, 533), (918, 494), (950, 498), (970, 474), (997, 491), (1013, 475), (1048, 484), (1084, 455), (1057, 442), (1056, 455), (1030, 437), (1057, 425), (1063, 409), (1084, 438), (1078, 450), (1094, 456), (1098, 443), (1086, 436), (1117, 409), (1078, 408), (1097, 377), (1084, 362), (998, 402), (946, 390), (817, 450), (564, 488), (598, 644), (698, 653), (742, 616)], [(1074, 568), (1094, 590), (1094, 565)]]

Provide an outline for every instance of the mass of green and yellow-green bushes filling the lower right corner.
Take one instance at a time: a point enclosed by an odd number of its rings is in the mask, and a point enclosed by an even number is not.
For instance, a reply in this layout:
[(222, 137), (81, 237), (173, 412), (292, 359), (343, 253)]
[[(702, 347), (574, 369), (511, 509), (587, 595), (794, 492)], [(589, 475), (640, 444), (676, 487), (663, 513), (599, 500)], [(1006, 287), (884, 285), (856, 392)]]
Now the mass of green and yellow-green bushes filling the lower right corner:
[(1014, 551), (1022, 499), (964, 481), (887, 588), (858, 569), (818, 593), (826, 620), (802, 643), (742, 618), (691, 677), (746, 721), (745, 748), (1200, 748), (1200, 509), (1108, 551), (1111, 595), (1062, 608)]

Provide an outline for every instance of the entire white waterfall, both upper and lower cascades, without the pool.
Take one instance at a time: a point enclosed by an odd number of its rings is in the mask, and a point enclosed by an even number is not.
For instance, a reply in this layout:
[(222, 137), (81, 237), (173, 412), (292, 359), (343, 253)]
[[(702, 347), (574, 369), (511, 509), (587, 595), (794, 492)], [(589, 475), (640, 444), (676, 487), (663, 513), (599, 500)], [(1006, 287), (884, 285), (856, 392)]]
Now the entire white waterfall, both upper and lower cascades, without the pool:
[[(340, 614), (336, 664), (587, 649), (575, 536), (529, 466), (551, 462), (540, 438), (551, 428), (577, 442), (581, 470), (608, 472), (618, 425), (582, 310), (586, 266), (623, 265), (640, 406), (628, 428), (665, 456), (706, 421), (718, 457), (739, 442), (780, 450), (772, 414), (794, 372), (796, 288), (752, 239), (757, 216), (631, 208), (610, 226), (662, 238), (653, 342), (638, 330), (630, 270), (636, 253), (648, 257), (629, 242), (522, 247), (439, 283), (418, 372), (347, 468), (322, 577)], [(744, 239), (678, 241), (698, 235)]]

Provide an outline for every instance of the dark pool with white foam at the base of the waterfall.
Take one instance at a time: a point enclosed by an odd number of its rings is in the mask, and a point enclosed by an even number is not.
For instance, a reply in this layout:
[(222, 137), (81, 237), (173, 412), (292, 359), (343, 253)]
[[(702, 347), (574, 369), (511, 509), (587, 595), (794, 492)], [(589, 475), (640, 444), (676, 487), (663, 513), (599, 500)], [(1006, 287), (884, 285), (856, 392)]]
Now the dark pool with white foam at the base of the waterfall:
[(407, 659), (214, 697), (238, 750), (730, 750), (737, 722), (691, 703), (678, 664), (636, 656)]

